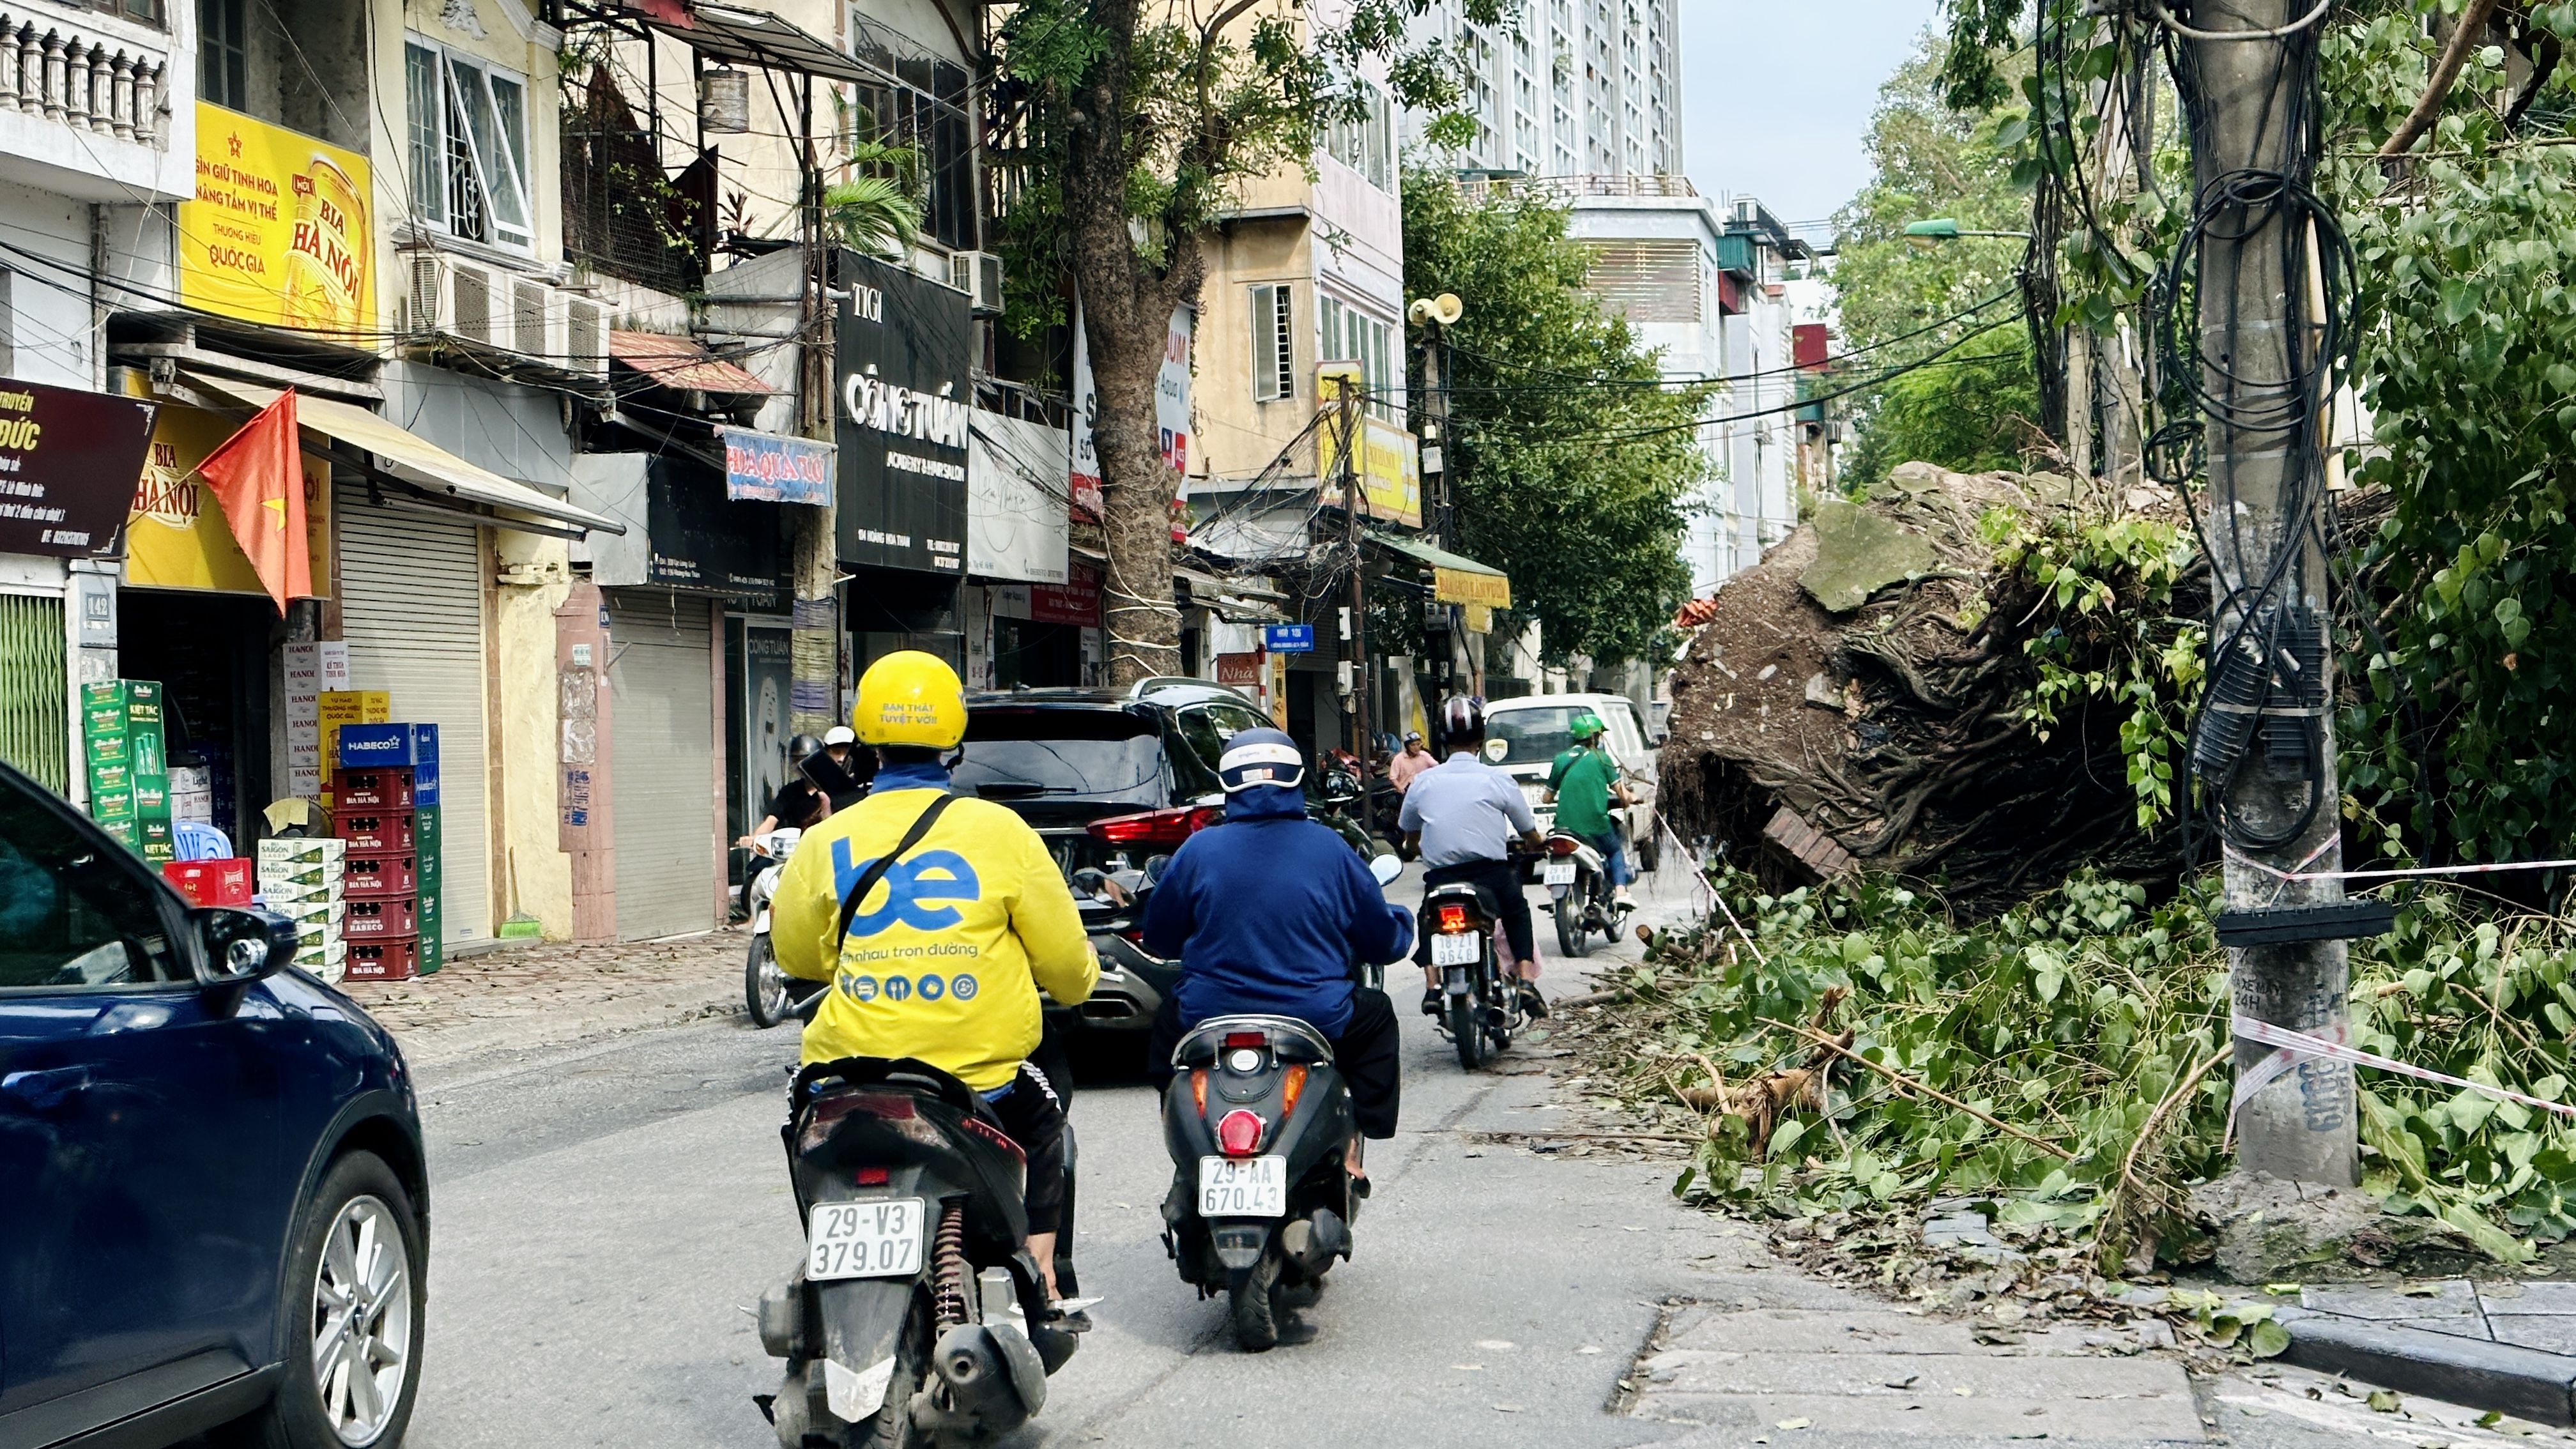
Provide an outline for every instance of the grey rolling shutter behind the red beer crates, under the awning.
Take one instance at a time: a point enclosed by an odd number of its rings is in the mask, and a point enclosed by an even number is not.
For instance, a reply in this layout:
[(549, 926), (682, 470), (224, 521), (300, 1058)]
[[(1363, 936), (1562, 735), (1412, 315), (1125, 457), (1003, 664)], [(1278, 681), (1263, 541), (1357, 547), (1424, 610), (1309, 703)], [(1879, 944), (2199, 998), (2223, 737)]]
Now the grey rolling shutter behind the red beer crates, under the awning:
[(332, 511), (350, 688), (386, 691), (399, 722), (438, 724), (446, 938), (489, 941), (479, 529), (376, 508), (363, 487), (343, 487)]

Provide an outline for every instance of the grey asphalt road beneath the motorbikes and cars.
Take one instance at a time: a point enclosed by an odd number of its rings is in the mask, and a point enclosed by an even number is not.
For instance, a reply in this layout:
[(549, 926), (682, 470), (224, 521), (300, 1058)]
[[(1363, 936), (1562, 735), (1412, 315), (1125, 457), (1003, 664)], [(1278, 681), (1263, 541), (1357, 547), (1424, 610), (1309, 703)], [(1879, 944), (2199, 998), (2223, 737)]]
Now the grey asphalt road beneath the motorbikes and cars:
[[(1409, 882), (1391, 895), (1409, 897)], [(1548, 987), (1584, 982), (1551, 962)], [(1100, 1328), (1051, 1379), (1046, 1413), (1005, 1449), (1947, 1449), (2043, 1436), (2043, 1418), (2058, 1441), (2143, 1446), (2200, 1439), (2195, 1415), (2239, 1446), (2427, 1441), (2427, 1426), (2287, 1385), (2187, 1387), (2154, 1356), (1922, 1359), (1935, 1377), (1955, 1364), (1989, 1397), (1888, 1403), (1888, 1387), (1852, 1379), (1860, 1338), (1873, 1354), (1955, 1346), (1932, 1328), (1909, 1341), (1909, 1320), (1883, 1305), (1801, 1279), (1744, 1227), (1674, 1204), (1664, 1165), (1484, 1137), (1564, 1119), (1548, 1101), (1553, 1047), (1520, 1044), (1466, 1075), (1427, 1018), (1404, 1021), (1404, 1127), (1370, 1155), (1378, 1191), (1355, 1225), (1355, 1261), (1293, 1307), (1270, 1354), (1236, 1351), (1224, 1302), (1200, 1302), (1164, 1258), (1157, 1207), (1172, 1168), (1151, 1093), (1139, 1083), (1077, 1093), (1077, 1253), (1084, 1292), (1105, 1297), (1092, 1310)], [(698, 1021), (425, 1073), (435, 1214), (415, 1449), (775, 1444), (752, 1405), (778, 1387), (752, 1305), (801, 1253), (778, 1145), (793, 1055), (788, 1029)], [(1680, 1302), (1705, 1307), (1667, 1310)], [(1757, 1354), (1723, 1359), (1744, 1369), (1716, 1374), (1718, 1397), (1669, 1400), (1680, 1410), (1638, 1397), (1654, 1377), (1638, 1354), (1667, 1312), (1739, 1315), (1721, 1341), (1749, 1338)], [(1777, 1343), (1757, 1315), (1788, 1323)], [(1757, 1361), (1780, 1382), (1752, 1382)], [(2141, 1372), (2164, 1374), (2143, 1400), (2120, 1387)], [(1816, 1397), (1834, 1392), (1860, 1397)], [(2030, 1408), (1996, 1434), (1991, 1392), (2043, 1397), (2012, 1400)], [(2491, 1439), (2463, 1426), (2445, 1426), (2447, 1444)]]

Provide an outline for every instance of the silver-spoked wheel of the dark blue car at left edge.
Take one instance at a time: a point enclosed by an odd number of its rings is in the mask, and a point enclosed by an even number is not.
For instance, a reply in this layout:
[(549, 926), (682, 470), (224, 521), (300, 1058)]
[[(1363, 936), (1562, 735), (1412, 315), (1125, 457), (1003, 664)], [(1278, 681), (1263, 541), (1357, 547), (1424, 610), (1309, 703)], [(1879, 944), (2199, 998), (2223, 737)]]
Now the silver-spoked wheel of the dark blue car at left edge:
[(296, 1214), (286, 1263), (286, 1372), (237, 1441), (258, 1449), (392, 1449), (420, 1390), (420, 1220), (374, 1152), (348, 1152)]

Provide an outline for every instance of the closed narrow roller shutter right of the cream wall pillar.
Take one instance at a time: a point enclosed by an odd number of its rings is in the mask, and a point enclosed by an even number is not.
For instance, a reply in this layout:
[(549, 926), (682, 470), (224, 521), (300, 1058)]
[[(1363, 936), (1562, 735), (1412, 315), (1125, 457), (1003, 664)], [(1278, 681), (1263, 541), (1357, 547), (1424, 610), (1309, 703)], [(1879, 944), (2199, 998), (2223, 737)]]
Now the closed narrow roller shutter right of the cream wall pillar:
[[(716, 681), (708, 601), (608, 590), (618, 938), (716, 918)], [(762, 802), (768, 804), (768, 802)]]

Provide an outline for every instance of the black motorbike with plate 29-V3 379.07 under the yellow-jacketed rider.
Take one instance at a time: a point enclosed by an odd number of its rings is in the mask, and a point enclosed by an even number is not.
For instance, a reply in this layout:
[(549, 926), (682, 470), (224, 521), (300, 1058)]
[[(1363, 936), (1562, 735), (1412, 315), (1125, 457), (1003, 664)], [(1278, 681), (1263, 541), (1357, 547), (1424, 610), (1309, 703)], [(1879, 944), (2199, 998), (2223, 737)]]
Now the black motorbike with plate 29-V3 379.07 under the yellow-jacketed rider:
[[(760, 1299), (760, 1346), (786, 1372), (755, 1397), (778, 1444), (951, 1446), (1028, 1423), (1090, 1323), (1046, 1302), (1020, 1147), (927, 1062), (814, 1062), (791, 1096), (781, 1137), (806, 1256)], [(1064, 1171), (1072, 1189), (1072, 1127)]]

